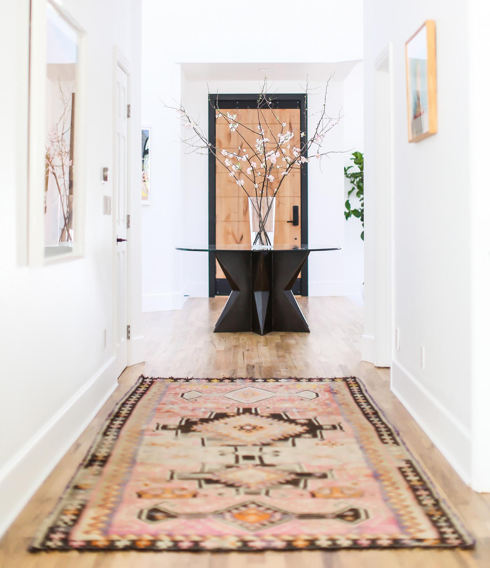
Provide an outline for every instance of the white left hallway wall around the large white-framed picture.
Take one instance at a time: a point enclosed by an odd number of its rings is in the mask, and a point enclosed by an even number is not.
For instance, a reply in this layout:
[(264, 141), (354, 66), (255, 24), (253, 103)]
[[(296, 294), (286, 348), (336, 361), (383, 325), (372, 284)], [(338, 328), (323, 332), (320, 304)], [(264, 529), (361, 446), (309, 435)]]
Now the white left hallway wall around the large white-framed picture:
[[(85, 256), (26, 266), (29, 1), (2, 5), (0, 53), (9, 89), (0, 91), (0, 533), (117, 385), (113, 352), (113, 232), (102, 215), (103, 166), (112, 170), (114, 45), (131, 65), (133, 166), (130, 362), (142, 360), (140, 216), (141, 4), (64, 0), (86, 32)], [(107, 22), (111, 25), (108, 26)], [(7, 57), (6, 54), (9, 54)], [(131, 278), (132, 277), (132, 278)], [(107, 347), (103, 347), (103, 329)]]

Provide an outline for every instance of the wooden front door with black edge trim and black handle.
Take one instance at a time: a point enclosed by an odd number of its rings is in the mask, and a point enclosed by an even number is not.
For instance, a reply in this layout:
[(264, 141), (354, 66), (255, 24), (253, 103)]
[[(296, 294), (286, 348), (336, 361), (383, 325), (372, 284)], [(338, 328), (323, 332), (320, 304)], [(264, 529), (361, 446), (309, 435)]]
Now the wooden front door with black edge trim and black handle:
[[(291, 95), (290, 95), (291, 96)], [(255, 151), (256, 135), (257, 130), (257, 108), (253, 108), (253, 100), (249, 101), (233, 101), (235, 106), (225, 106), (223, 101), (223, 95), (219, 97), (220, 112), (226, 113), (227, 111), (231, 114), (236, 114), (236, 120), (248, 126), (252, 132), (246, 130), (245, 128), (239, 128), (236, 132), (231, 132), (228, 126), (228, 122), (224, 118), (217, 118), (213, 112), (213, 122), (212, 126), (215, 127), (216, 133), (216, 147), (219, 149), (225, 149), (229, 152), (237, 152), (238, 147), (245, 150), (252, 156), (253, 151)], [(304, 95), (303, 95), (304, 101)], [(240, 105), (241, 103), (241, 105)], [(284, 104), (286, 103), (286, 104)], [(277, 101), (273, 111), (263, 110), (264, 118), (267, 120), (269, 127), (263, 127), (265, 130), (264, 136), (276, 137), (277, 132), (277, 116), (281, 123), (286, 123), (284, 131), (289, 130), (295, 133), (294, 143), (299, 146), (300, 144), (300, 132), (305, 130), (304, 127), (304, 115), (302, 116), (301, 109), (301, 99), (296, 99), (296, 101), (284, 101), (281, 105), (281, 101)], [(237, 105), (246, 106), (245, 108), (237, 108)], [(285, 106), (286, 108), (283, 108)], [(274, 116), (273, 116), (274, 113)], [(262, 122), (262, 119), (261, 119)], [(211, 117), (210, 117), (211, 126)], [(241, 136), (240, 136), (240, 132)], [(245, 140), (244, 140), (245, 139)], [(212, 201), (211, 197), (215, 198), (215, 244), (250, 244), (250, 224), (249, 224), (249, 210), (248, 210), (248, 198), (245, 191), (236, 184), (235, 179), (229, 176), (228, 170), (222, 165), (216, 158), (212, 158), (214, 168), (215, 168), (215, 195), (210, 195), (210, 203)], [(257, 160), (256, 160), (257, 161)], [(295, 245), (301, 244), (301, 237), (303, 236), (303, 242), (307, 239), (304, 238), (305, 231), (301, 231), (301, 225), (305, 222), (306, 211), (301, 211), (301, 206), (306, 203), (306, 185), (305, 179), (302, 183), (302, 177), (305, 178), (306, 173), (304, 171), (292, 172), (284, 181), (282, 182), (279, 193), (276, 197), (276, 214), (275, 214), (275, 228), (274, 228), (274, 243), (275, 244), (291, 244)], [(210, 192), (211, 180), (210, 176)], [(275, 189), (279, 183), (278, 176), (272, 183), (272, 189)], [(302, 199), (302, 189), (303, 189), (303, 199)], [(303, 203), (302, 203), (303, 202)], [(298, 207), (298, 221), (297, 225), (292, 223), (293, 221), (293, 207)], [(211, 207), (210, 207), (210, 215)], [(211, 227), (210, 227), (211, 228)], [(212, 243), (212, 235), (210, 231), (210, 243)], [(221, 270), (219, 264), (216, 261), (213, 262), (214, 266), (210, 262), (210, 273), (215, 271), (215, 294), (224, 295), (229, 294), (229, 286), (225, 279), (225, 275)], [(303, 270), (303, 276), (305, 271)], [(212, 274), (210, 274), (212, 278)], [(305, 285), (305, 281), (303, 282)], [(306, 295), (305, 286), (301, 286), (301, 274), (298, 278), (298, 282), (294, 287), (295, 294)], [(210, 282), (210, 292), (212, 291), (212, 286)], [(211, 294), (213, 295), (213, 294)]]

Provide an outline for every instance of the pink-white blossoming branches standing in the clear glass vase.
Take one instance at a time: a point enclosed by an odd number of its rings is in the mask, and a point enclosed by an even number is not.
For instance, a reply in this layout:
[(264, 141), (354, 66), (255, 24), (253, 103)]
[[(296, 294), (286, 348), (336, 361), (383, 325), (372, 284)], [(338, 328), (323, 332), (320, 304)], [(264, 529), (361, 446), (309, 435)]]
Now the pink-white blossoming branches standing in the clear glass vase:
[[(332, 77), (330, 77), (331, 79)], [(288, 130), (287, 124), (282, 122), (274, 112), (274, 94), (269, 93), (267, 78), (261, 84), (261, 89), (257, 98), (257, 124), (242, 124), (237, 120), (236, 112), (221, 111), (219, 96), (216, 103), (211, 102), (211, 95), (208, 94), (210, 105), (215, 111), (216, 120), (223, 119), (228, 123), (230, 132), (236, 132), (240, 144), (233, 151), (224, 148), (217, 148), (208, 138), (206, 132), (199, 125), (199, 120), (192, 118), (191, 114), (181, 104), (178, 106), (164, 105), (177, 111), (182, 126), (190, 131), (189, 136), (181, 137), (181, 141), (187, 147), (187, 153), (208, 154), (211, 152), (216, 160), (228, 170), (238, 186), (240, 186), (249, 198), (256, 198), (255, 201), (249, 199), (249, 204), (254, 208), (258, 216), (258, 231), (252, 245), (270, 245), (269, 235), (267, 235), (266, 223), (273, 207), (273, 199), (279, 193), (280, 187), (292, 172), (303, 168), (314, 156), (317, 160), (322, 160), (336, 151), (325, 151), (323, 144), (325, 135), (336, 126), (341, 119), (339, 114), (336, 117), (329, 116), (326, 111), (326, 97), (329, 81), (325, 86), (323, 104), (320, 111), (308, 114), (308, 105), (305, 104), (304, 119), (311, 124), (313, 118), (316, 124), (313, 128), (313, 135), (307, 137), (305, 132), (298, 130)], [(308, 100), (308, 82), (304, 89), (305, 102)], [(163, 102), (163, 101), (162, 101)], [(271, 111), (271, 112), (269, 112)], [(267, 118), (269, 117), (269, 118)], [(250, 139), (249, 133), (253, 133), (256, 140), (254, 147), (246, 140)], [(310, 157), (312, 156), (312, 157)], [(273, 187), (273, 182), (279, 183)], [(263, 206), (262, 200), (265, 201)]]

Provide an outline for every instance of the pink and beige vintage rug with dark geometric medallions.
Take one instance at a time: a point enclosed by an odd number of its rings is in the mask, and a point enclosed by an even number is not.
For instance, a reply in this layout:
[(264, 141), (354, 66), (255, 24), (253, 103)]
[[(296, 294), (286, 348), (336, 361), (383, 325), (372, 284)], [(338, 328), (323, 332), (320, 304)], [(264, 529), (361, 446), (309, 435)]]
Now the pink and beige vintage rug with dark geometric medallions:
[(30, 550), (469, 548), (353, 377), (140, 377)]

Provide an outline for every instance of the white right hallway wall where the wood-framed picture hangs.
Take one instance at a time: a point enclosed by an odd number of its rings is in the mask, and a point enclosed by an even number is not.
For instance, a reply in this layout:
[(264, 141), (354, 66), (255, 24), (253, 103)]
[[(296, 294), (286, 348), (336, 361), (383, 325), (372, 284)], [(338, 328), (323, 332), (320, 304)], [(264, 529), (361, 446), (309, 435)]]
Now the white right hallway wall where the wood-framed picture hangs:
[[(393, 353), (392, 390), (469, 481), (471, 85), (467, 4), (367, 0), (364, 13), (366, 203), (372, 199), (375, 183), (374, 60), (393, 42), (393, 301), (400, 350)], [(425, 19), (434, 19), (437, 28), (438, 133), (409, 144), (404, 48)], [(367, 214), (366, 260), (374, 258), (374, 226), (369, 219)], [(367, 281), (372, 281), (369, 268), (367, 262), (365, 333), (374, 332), (374, 306), (367, 287)], [(422, 346), (425, 369), (421, 366)]]

